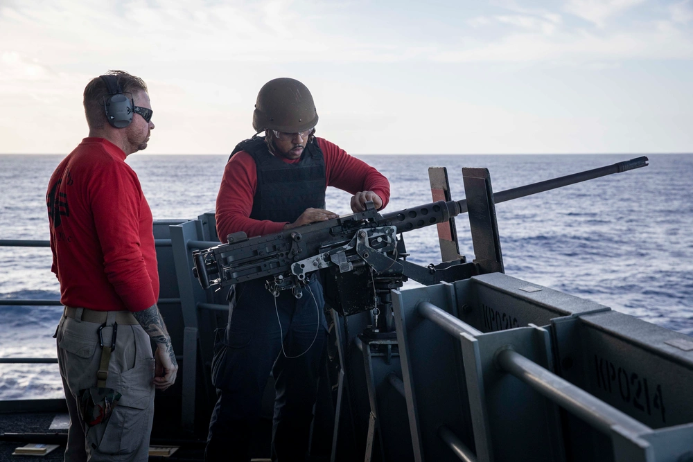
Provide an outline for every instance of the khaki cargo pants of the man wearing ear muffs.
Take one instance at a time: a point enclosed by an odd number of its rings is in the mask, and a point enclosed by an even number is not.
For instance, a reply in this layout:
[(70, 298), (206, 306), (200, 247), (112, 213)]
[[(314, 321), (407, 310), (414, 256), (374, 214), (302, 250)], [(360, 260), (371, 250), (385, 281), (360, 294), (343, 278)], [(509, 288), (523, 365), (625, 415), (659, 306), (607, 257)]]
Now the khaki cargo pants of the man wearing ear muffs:
[[(150, 339), (139, 325), (118, 326), (116, 348), (108, 366), (106, 387), (122, 394), (106, 423), (94, 427), (80, 418), (77, 397), (81, 389), (96, 387), (101, 359), (99, 323), (62, 317), (58, 339), (58, 364), (70, 413), (65, 461), (148, 461), (149, 436), (154, 419), (154, 357)], [(109, 312), (112, 325), (115, 312)], [(103, 344), (110, 345), (113, 329), (103, 328)]]

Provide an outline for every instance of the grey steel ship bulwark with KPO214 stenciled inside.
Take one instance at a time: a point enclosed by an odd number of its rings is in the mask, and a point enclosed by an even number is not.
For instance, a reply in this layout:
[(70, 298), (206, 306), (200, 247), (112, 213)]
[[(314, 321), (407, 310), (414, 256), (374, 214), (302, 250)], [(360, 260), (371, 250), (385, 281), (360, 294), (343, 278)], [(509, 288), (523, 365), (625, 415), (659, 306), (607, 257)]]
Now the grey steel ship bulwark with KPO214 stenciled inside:
[(399, 362), (378, 359), (377, 398), (409, 426), (380, 428), (408, 433), (416, 461), (693, 454), (686, 335), (502, 273), (393, 290), (392, 305)]

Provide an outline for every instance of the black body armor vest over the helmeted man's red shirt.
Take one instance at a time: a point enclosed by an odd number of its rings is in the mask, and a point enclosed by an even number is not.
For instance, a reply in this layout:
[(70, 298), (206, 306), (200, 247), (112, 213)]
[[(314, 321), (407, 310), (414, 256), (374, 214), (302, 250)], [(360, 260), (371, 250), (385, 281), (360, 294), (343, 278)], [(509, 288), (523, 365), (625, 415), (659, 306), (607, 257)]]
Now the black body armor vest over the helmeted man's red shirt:
[(241, 150), (254, 159), (258, 177), (250, 218), (292, 223), (306, 208), (325, 208), (325, 159), (315, 138), (297, 163), (274, 157), (262, 136), (241, 141), (231, 156)]

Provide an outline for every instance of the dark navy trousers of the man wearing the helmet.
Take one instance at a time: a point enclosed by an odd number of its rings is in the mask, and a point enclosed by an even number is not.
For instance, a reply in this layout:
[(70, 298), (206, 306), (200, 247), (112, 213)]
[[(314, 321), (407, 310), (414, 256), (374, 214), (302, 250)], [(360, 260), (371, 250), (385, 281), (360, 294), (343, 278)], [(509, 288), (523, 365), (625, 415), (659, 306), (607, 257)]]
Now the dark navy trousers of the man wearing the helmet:
[(301, 299), (285, 290), (276, 299), (276, 309), (274, 302), (264, 281), (236, 286), (229, 323), (218, 332), (214, 347), (212, 382), (218, 400), (209, 423), (205, 461), (250, 460), (249, 443), (270, 372), (276, 391), (272, 460), (306, 458), (326, 339), (322, 286), (313, 277)]

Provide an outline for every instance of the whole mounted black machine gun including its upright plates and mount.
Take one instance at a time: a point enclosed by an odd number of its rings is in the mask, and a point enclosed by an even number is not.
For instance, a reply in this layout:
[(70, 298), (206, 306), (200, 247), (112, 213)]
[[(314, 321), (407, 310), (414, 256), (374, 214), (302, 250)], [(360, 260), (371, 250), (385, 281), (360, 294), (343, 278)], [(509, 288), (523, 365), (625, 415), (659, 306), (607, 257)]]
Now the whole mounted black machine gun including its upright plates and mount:
[[(463, 168), (466, 199), (449, 200), (446, 191), (441, 197), (448, 200), (392, 213), (380, 214), (368, 203), (363, 212), (267, 236), (247, 238), (243, 232), (232, 233), (227, 244), (193, 252), (193, 273), (204, 289), (265, 278), (267, 290), (274, 296), (281, 290), (292, 290), (300, 297), (301, 285), (311, 273), (322, 270), (326, 300), (332, 308), (343, 315), (372, 310), (374, 325), (366, 335), (394, 337), (389, 291), (401, 287), (407, 278), (432, 285), (503, 272), (494, 204), (644, 167), (647, 160), (638, 157), (495, 194), (488, 170)], [(456, 249), (456, 237), (450, 236), (455, 233), (451, 219), (466, 212), (475, 251), (473, 262), (459, 256), (459, 251), (448, 251), (451, 258), (438, 265), (422, 267), (407, 262), (402, 233), (438, 224), (441, 243), (447, 235)], [(448, 221), (450, 227), (445, 231)]]

